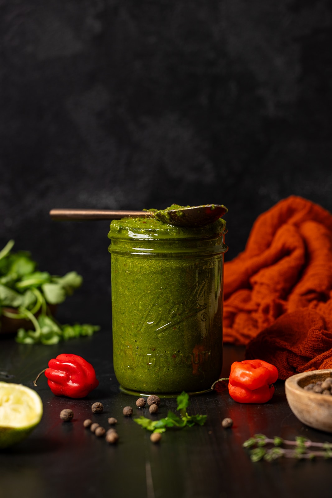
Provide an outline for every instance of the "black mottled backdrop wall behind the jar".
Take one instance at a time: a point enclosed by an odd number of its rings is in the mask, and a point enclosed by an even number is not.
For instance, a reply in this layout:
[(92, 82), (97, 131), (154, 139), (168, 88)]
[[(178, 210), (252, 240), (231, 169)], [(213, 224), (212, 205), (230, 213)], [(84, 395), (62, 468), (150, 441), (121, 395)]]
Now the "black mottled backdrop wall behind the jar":
[[(226, 258), (297, 194), (332, 211), (331, 0), (0, 0), (0, 244), (110, 300), (108, 223), (228, 207)], [(67, 306), (67, 303), (66, 303)], [(103, 304), (106, 306), (106, 304)]]

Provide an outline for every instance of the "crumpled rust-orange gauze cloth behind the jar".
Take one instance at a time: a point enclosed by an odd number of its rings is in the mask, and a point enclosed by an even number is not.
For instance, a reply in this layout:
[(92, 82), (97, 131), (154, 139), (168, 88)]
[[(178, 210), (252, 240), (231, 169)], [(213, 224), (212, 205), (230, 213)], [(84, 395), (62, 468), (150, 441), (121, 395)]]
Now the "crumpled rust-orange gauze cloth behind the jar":
[[(280, 378), (332, 368), (332, 215), (291, 196), (261, 214), (224, 269), (224, 341)], [(280, 361), (280, 365), (278, 362)]]

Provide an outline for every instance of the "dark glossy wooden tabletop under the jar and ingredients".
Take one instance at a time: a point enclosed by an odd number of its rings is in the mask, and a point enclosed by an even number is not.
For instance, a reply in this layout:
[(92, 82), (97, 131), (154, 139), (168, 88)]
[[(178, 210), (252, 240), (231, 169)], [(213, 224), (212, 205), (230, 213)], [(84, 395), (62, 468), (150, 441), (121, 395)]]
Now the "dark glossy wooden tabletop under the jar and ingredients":
[[(304, 426), (291, 412), (278, 381), (273, 399), (262, 405), (235, 403), (227, 389), (191, 398), (191, 412), (208, 415), (204, 427), (167, 431), (153, 445), (150, 433), (122, 408), (134, 407), (136, 398), (118, 390), (111, 361), (111, 330), (92, 338), (71, 340), (57, 346), (18, 345), (12, 337), (0, 339), (1, 380), (33, 388), (37, 373), (60, 353), (74, 353), (90, 361), (100, 380), (86, 399), (56, 397), (44, 376), (38, 381), (44, 415), (35, 431), (23, 442), (0, 451), (0, 496), (24, 498), (137, 497), (137, 498), (320, 498), (331, 496), (332, 460), (279, 459), (252, 463), (242, 443), (255, 433), (294, 439), (330, 441), (332, 435)], [(223, 375), (242, 360), (243, 348), (225, 346)], [(104, 404), (104, 413), (93, 415), (91, 405)], [(74, 419), (59, 418), (63, 408), (72, 408)], [(175, 410), (175, 399), (163, 399), (160, 415)], [(144, 410), (145, 414), (147, 410)], [(119, 442), (110, 446), (84, 429), (86, 418), (107, 427), (107, 419), (118, 419)], [(231, 417), (231, 429), (221, 420)]]

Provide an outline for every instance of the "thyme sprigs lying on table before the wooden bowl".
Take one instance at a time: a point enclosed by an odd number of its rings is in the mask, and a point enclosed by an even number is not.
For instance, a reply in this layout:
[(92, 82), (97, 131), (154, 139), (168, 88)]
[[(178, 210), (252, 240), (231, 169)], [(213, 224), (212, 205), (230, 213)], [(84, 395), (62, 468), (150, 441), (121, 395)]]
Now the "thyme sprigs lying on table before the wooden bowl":
[[(269, 444), (273, 444), (273, 447), (266, 448), (266, 445)], [(292, 446), (292, 448), (283, 448), (283, 445)], [(316, 457), (332, 458), (332, 443), (315, 443), (304, 436), (297, 436), (294, 441), (290, 441), (279, 436), (271, 439), (264, 434), (255, 434), (244, 441), (242, 446), (244, 448), (253, 448), (250, 450), (250, 459), (252, 462), (258, 462), (262, 459), (272, 462), (281, 457), (310, 460)], [(312, 450), (311, 448), (321, 449)]]

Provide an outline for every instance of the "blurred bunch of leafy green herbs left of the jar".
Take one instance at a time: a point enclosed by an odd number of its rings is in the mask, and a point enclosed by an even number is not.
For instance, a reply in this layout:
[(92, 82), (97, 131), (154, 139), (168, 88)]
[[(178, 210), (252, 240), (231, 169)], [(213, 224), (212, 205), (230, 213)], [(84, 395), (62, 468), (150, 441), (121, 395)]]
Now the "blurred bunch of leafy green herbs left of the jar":
[[(60, 325), (49, 305), (62, 303), (83, 282), (76, 271), (64, 276), (38, 271), (27, 251), (11, 252), (10, 240), (0, 251), (0, 315), (29, 320), (34, 330), (19, 328), (15, 340), (22, 344), (57, 344), (61, 340), (91, 336), (100, 327), (90, 324)], [(14, 308), (14, 312), (7, 308)], [(37, 316), (36, 316), (37, 315)]]

